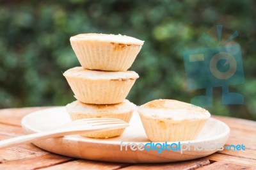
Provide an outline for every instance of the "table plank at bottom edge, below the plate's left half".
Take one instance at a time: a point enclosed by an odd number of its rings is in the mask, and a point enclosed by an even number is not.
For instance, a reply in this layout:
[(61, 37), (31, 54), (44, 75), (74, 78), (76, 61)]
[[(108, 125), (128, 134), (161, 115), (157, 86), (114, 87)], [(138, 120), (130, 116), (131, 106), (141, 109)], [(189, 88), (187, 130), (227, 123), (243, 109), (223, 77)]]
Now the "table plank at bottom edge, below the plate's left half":
[(52, 170), (62, 170), (67, 167), (72, 167), (72, 170), (80, 170), (80, 169), (120, 169), (122, 167), (129, 166), (129, 164), (122, 163), (109, 163), (109, 162), (95, 162), (92, 160), (74, 160), (64, 164), (58, 164), (56, 166), (42, 168), (52, 169)]

